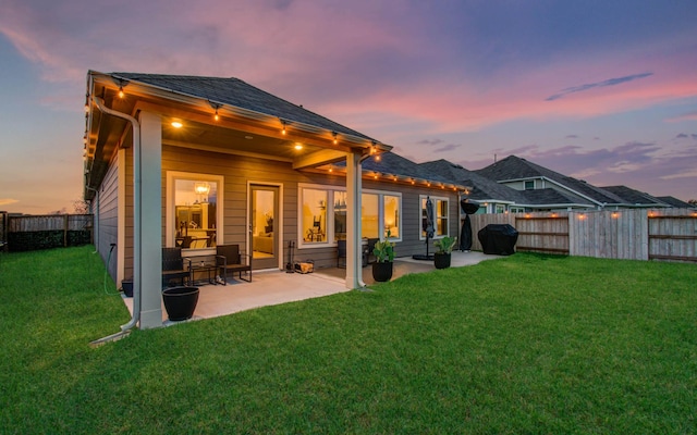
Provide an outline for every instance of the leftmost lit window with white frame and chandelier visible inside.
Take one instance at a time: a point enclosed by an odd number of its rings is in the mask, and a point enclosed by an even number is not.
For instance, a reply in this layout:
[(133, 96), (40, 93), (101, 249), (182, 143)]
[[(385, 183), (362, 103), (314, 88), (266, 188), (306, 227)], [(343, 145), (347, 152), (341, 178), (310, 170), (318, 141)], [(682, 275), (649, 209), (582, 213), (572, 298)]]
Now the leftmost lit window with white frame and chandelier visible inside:
[(167, 246), (210, 249), (222, 234), (222, 177), (167, 173)]

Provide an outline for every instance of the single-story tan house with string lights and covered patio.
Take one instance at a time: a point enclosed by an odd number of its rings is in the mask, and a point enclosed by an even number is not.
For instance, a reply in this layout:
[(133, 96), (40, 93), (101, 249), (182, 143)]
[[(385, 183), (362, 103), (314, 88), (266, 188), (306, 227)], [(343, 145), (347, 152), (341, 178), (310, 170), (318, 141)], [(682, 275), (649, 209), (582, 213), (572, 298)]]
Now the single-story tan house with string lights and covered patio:
[(424, 251), (427, 198), (437, 234), (457, 234), (468, 186), (237, 78), (89, 71), (85, 110), (95, 244), (115, 282), (134, 282), (124, 327), (162, 324), (162, 247), (204, 257), (235, 244), (255, 270), (282, 270), (291, 251), (335, 264), (345, 239), (357, 288), (364, 238), (389, 232), (398, 254)]

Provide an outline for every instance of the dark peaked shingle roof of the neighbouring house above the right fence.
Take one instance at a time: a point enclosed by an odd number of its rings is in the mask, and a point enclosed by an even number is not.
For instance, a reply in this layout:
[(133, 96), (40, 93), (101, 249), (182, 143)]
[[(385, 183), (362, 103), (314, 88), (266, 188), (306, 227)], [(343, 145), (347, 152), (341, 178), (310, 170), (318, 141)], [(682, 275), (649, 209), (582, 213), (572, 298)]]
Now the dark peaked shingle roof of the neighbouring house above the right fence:
[(578, 192), (598, 204), (610, 206), (624, 203), (620, 197), (610, 191), (596, 187), (584, 181), (560, 174), (559, 172), (554, 172), (533, 162), (528, 162), (527, 160), (515, 156), (509, 156), (505, 159), (476, 172), (479, 175), (493, 179), (498, 183), (543, 177), (564, 186), (568, 190)]

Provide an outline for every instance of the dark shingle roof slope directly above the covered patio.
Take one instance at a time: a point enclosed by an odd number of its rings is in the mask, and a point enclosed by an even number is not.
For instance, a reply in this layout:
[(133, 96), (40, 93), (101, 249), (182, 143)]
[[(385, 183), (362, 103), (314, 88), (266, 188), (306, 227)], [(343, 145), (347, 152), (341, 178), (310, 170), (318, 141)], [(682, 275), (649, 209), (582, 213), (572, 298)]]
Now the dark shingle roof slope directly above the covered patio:
[(302, 105), (293, 104), (239, 78), (199, 77), (188, 75), (163, 75), (139, 73), (113, 73), (112, 76), (129, 82), (138, 82), (172, 92), (207, 99), (215, 103), (262, 113), (289, 122), (298, 122), (320, 128), (362, 137), (372, 138), (314, 113)]

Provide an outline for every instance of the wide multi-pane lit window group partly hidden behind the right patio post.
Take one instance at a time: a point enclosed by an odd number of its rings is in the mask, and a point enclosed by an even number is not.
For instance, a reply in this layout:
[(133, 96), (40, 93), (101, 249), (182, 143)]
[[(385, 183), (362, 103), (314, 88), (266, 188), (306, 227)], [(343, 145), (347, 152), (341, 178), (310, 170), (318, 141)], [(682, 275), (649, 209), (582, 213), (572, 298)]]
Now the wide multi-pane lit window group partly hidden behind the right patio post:
[[(301, 246), (326, 245), (346, 238), (347, 195), (343, 187), (299, 185)], [(402, 196), (396, 192), (364, 190), (360, 195), (363, 238), (400, 241)]]

